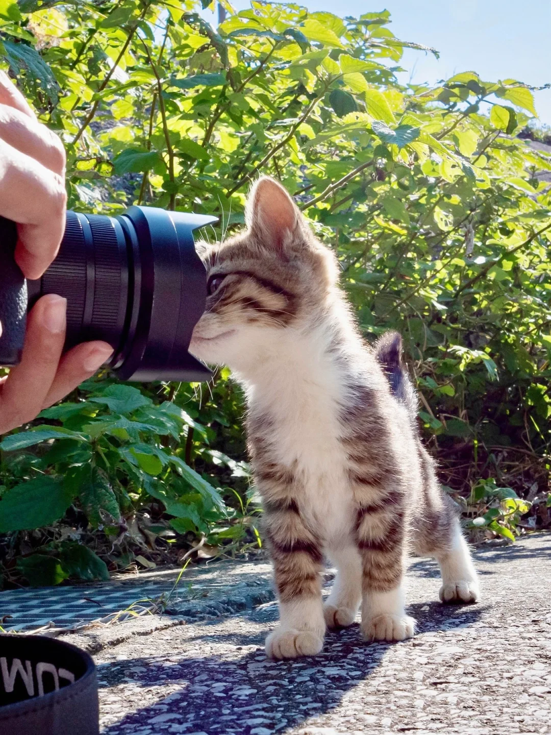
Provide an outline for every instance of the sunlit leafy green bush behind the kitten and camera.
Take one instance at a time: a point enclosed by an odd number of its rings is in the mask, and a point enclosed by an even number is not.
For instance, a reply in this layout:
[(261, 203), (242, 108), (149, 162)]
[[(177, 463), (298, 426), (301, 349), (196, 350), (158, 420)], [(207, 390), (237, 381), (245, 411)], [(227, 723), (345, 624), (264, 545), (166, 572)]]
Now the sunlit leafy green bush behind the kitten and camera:
[[(530, 87), (472, 71), (400, 85), (403, 48), (434, 51), (395, 38), (387, 11), (224, 7), (213, 29), (192, 0), (0, 1), (0, 65), (65, 142), (70, 206), (214, 213), (205, 236), (220, 238), (257, 174), (280, 179), (336, 249), (366, 337), (404, 335), (446, 486), (530, 494), (531, 526), (549, 523), (551, 218), (536, 173), (551, 162), (515, 137), (536, 114)], [(4, 439), (9, 580), (40, 564), (48, 581), (101, 578), (83, 544), (115, 569), (199, 534), (206, 553), (260, 543), (227, 372), (212, 394), (140, 390), (100, 376)], [(518, 531), (525, 506), (496, 508), (486, 531)]]

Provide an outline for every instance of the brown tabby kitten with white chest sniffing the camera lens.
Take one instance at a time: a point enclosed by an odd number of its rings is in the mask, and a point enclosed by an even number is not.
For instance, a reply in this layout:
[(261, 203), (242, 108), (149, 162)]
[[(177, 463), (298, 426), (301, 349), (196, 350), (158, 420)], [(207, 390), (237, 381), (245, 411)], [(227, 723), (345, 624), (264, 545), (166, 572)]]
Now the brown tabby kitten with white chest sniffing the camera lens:
[[(409, 638), (409, 548), (438, 560), (442, 601), (480, 595), (453, 502), (419, 439), (400, 336), (364, 345), (334, 254), (273, 179), (254, 184), (246, 222), (221, 245), (203, 243), (209, 295), (190, 349), (228, 365), (245, 390), (281, 617), (267, 654), (319, 653), (326, 625), (350, 625), (360, 605), (365, 639)], [(337, 568), (325, 605), (324, 556)]]

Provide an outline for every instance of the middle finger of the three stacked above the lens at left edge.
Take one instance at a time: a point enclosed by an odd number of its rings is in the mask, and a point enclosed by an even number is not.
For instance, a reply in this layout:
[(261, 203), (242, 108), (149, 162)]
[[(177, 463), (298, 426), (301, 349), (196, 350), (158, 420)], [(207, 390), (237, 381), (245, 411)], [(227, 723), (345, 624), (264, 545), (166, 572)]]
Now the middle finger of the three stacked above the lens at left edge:
[(60, 138), (21, 110), (1, 103), (0, 138), (50, 171), (65, 176), (65, 148)]

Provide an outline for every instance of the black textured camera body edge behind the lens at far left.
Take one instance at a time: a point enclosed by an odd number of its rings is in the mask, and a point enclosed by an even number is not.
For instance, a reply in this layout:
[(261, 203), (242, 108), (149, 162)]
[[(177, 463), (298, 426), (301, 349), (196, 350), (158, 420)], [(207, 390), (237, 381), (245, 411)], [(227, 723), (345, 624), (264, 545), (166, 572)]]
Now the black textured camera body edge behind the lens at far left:
[(0, 365), (18, 365), (25, 339), (26, 280), (13, 257), (15, 223), (0, 217)]

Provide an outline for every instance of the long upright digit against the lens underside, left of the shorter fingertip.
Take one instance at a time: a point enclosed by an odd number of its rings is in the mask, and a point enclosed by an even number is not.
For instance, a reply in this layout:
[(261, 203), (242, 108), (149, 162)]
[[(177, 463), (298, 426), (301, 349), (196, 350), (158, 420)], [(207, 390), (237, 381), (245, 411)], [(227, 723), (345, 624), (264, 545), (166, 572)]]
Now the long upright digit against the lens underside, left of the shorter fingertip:
[(29, 314), (21, 363), (10, 370), (0, 393), (0, 434), (32, 421), (54, 382), (65, 341), (67, 300), (40, 298)]

